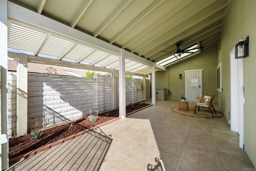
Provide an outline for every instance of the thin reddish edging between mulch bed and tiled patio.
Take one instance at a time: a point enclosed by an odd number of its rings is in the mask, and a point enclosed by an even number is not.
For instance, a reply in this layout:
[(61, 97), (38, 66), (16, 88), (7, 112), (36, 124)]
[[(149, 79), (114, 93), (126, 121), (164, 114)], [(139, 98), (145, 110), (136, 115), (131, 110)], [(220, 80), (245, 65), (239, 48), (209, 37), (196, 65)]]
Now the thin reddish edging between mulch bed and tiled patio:
[[(130, 112), (130, 113), (127, 113), (126, 116), (131, 115), (131, 114), (133, 114), (133, 113), (135, 113), (135, 112), (137, 112), (137, 111), (140, 111), (140, 110), (145, 109), (145, 108), (150, 107), (150, 106), (152, 106), (152, 104), (147, 105), (147, 106), (145, 106), (145, 107), (142, 107), (142, 108), (140, 108), (140, 109), (137, 109), (137, 110), (135, 110), (135, 111), (132, 111), (132, 112)], [(104, 122), (104, 123), (102, 123), (102, 124), (100, 124), (100, 125), (91, 127), (90, 129), (86, 129), (85, 131), (81, 131), (81, 132), (76, 133), (76, 134), (74, 134), (74, 135), (70, 135), (69, 137), (66, 137), (66, 138), (64, 138), (64, 139), (60, 139), (60, 140), (58, 140), (58, 141), (56, 141), (56, 142), (54, 142), (54, 143), (50, 143), (50, 144), (44, 145), (44, 146), (42, 146), (42, 147), (39, 147), (38, 149), (35, 149), (35, 150), (32, 150), (32, 151), (26, 153), (26, 154), (23, 154), (23, 155), (19, 155), (19, 156), (17, 156), (17, 157), (14, 157), (13, 159), (10, 159), (10, 160), (9, 160), (9, 164), (17, 163), (18, 161), (21, 161), (21, 160), (23, 160), (23, 159), (26, 159), (26, 158), (28, 158), (28, 157), (30, 157), (30, 156), (32, 156), (32, 155), (35, 155), (35, 154), (37, 154), (37, 153), (39, 153), (39, 152), (41, 152), (41, 151), (44, 151), (44, 150), (46, 150), (46, 149), (50, 149), (51, 147), (54, 147), (55, 145), (59, 145), (59, 144), (61, 144), (61, 143), (64, 143), (64, 142), (66, 142), (66, 141), (69, 141), (70, 139), (74, 139), (75, 137), (78, 137), (78, 136), (80, 136), (80, 135), (83, 135), (84, 133), (90, 132), (90, 131), (94, 130), (95, 128), (102, 127), (102, 126), (104, 126), (104, 125), (106, 125), (106, 124), (108, 124), (108, 123), (111, 123), (111, 122), (113, 122), (113, 121), (116, 121), (116, 120), (118, 120), (118, 119), (120, 119), (120, 117), (117, 117), (117, 118), (112, 119), (112, 120), (110, 120), (110, 121), (106, 121), (106, 122)]]

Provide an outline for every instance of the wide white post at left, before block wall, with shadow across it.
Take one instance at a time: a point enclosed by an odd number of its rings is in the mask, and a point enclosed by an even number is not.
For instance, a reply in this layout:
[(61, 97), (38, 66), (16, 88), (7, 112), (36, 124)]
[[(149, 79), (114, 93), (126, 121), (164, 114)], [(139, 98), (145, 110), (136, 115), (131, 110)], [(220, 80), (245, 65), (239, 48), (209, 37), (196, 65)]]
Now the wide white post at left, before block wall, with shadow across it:
[(28, 130), (28, 57), (18, 55), (17, 66), (17, 136), (26, 135)]

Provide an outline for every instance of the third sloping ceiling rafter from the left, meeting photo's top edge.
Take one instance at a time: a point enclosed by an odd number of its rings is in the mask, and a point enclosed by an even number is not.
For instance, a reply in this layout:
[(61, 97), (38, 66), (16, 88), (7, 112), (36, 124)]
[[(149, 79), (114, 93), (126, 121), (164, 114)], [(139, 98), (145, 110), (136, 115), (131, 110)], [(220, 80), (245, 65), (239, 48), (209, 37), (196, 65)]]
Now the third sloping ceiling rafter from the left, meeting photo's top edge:
[(104, 28), (106, 28), (108, 24), (110, 24), (116, 18), (116, 16), (118, 16), (118, 14), (120, 14), (120, 12), (122, 12), (122, 10), (126, 8), (128, 4), (130, 4), (130, 2), (132, 2), (132, 0), (123, 0), (120, 5), (106, 18), (106, 20), (104, 20), (104, 22), (98, 26), (98, 28), (93, 33), (93, 36), (98, 36), (102, 30), (104, 30)]

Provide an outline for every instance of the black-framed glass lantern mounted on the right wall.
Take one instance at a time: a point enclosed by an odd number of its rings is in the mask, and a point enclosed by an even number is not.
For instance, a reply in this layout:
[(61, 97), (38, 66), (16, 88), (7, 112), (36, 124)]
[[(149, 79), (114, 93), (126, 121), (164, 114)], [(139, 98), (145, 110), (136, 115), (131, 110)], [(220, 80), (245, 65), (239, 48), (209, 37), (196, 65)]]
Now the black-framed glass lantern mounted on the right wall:
[(235, 47), (235, 58), (245, 58), (249, 55), (249, 36), (244, 40), (238, 42)]

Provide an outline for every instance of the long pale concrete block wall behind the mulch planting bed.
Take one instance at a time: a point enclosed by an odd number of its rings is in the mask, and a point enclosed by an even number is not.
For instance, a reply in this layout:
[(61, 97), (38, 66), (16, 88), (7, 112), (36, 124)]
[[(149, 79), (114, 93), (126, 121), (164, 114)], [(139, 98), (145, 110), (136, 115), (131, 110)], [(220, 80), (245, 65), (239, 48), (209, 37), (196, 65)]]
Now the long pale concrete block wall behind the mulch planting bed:
[[(110, 76), (94, 78), (28, 74), (28, 129), (35, 122), (51, 126), (89, 115), (97, 108), (100, 113), (112, 109)], [(126, 105), (143, 100), (143, 80), (126, 78)], [(118, 99), (116, 80), (116, 104)], [(8, 72), (8, 135), (16, 133), (16, 72)]]

